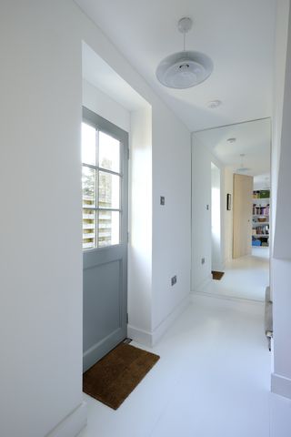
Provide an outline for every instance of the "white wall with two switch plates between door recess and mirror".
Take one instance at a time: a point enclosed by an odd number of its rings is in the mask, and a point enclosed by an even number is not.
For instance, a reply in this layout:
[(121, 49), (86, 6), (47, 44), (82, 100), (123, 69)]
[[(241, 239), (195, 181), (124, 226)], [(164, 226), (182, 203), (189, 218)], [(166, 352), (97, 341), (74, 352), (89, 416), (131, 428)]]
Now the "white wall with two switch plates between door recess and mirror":
[[(165, 206), (160, 205), (165, 197)], [(153, 107), (154, 341), (189, 301), (191, 136), (164, 105)], [(176, 275), (176, 285), (171, 278)]]

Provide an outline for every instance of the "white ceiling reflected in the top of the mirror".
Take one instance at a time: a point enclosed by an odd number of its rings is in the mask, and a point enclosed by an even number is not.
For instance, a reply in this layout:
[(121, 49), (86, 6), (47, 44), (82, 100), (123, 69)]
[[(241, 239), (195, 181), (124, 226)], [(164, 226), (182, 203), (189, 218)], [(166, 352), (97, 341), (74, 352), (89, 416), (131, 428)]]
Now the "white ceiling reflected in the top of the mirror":
[[(225, 166), (236, 173), (242, 167), (240, 154), (245, 154), (243, 167), (249, 168), (244, 174), (260, 176), (258, 183), (269, 178), (271, 159), (270, 119), (240, 123), (233, 126), (216, 127), (194, 134), (201, 143)], [(236, 138), (230, 143), (228, 138)], [(268, 182), (269, 184), (269, 182)]]

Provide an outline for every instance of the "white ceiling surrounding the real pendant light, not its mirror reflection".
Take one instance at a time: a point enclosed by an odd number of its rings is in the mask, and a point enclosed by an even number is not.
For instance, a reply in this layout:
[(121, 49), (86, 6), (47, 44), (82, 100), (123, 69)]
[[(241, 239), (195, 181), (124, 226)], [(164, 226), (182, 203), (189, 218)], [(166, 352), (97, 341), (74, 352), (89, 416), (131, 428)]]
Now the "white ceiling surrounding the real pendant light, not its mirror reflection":
[[(270, 117), (274, 0), (76, 0), (146, 78), (156, 93), (195, 131)], [(183, 47), (176, 24), (190, 16), (194, 29), (186, 47), (206, 53), (214, 72), (206, 82), (184, 90), (156, 79), (162, 58)], [(209, 100), (221, 107), (209, 109)]]

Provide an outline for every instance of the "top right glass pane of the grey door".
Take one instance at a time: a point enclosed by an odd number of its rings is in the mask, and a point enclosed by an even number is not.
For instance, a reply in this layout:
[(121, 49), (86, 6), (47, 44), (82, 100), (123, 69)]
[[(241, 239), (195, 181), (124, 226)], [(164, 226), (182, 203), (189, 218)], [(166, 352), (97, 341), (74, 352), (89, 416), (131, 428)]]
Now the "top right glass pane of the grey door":
[(120, 141), (99, 132), (99, 167), (120, 173)]

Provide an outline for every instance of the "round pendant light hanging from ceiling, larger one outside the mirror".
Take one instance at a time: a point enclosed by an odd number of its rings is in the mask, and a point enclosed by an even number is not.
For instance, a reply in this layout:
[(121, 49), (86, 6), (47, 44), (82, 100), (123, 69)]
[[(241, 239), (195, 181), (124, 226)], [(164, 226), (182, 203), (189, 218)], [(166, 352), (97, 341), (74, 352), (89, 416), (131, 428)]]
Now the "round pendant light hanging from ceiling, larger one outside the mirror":
[(191, 18), (181, 18), (178, 30), (184, 35), (184, 50), (166, 56), (156, 68), (156, 77), (170, 88), (190, 88), (204, 82), (213, 71), (210, 57), (200, 52), (186, 50), (186, 33), (192, 28)]

